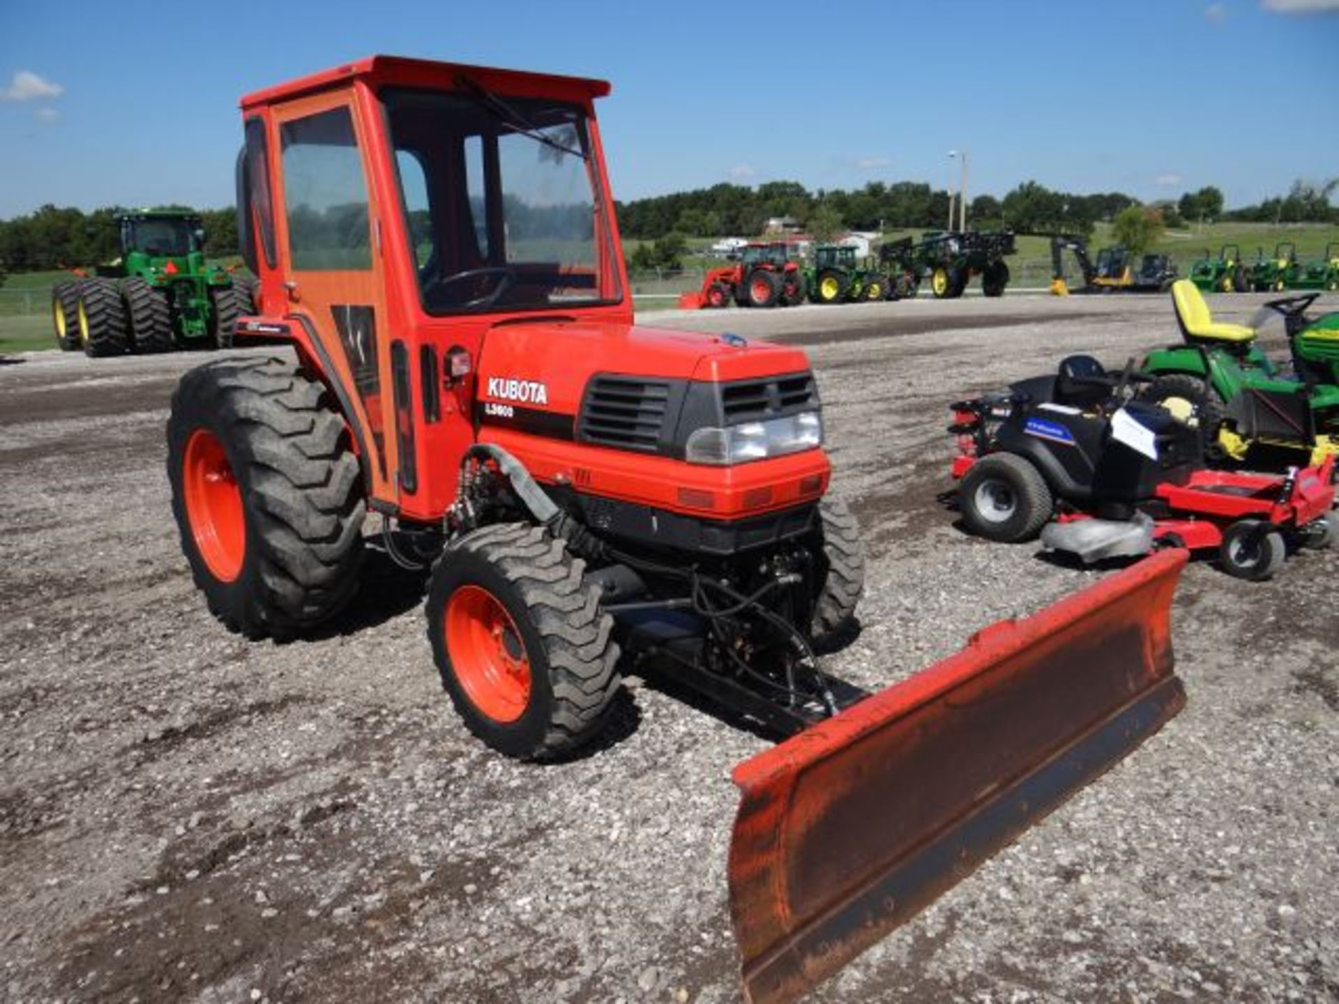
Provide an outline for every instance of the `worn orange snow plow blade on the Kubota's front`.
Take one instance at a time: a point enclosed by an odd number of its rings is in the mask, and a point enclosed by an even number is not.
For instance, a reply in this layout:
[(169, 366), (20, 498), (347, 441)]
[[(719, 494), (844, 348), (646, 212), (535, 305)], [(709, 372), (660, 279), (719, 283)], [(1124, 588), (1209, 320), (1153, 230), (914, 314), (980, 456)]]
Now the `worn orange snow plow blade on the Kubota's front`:
[(1185, 705), (1166, 550), (734, 771), (744, 996), (789, 1001), (905, 922)]

